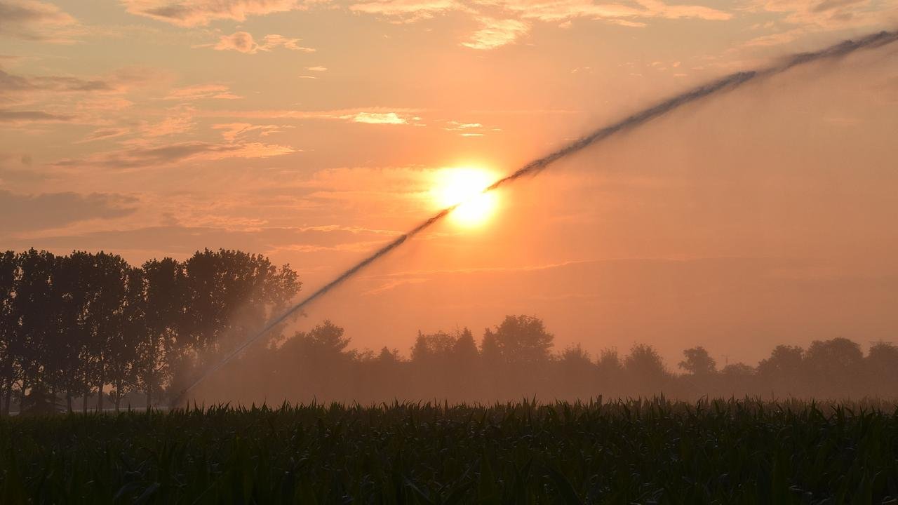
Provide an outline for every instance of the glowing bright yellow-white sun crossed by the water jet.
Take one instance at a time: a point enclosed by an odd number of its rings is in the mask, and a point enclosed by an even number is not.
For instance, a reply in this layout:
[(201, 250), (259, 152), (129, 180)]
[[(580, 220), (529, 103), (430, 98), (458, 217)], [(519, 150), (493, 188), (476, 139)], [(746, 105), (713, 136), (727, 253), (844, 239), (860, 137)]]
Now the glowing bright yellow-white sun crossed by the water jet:
[(489, 220), (497, 207), (495, 191), (483, 192), (496, 182), (489, 170), (474, 167), (445, 168), (436, 173), (434, 202), (439, 208), (455, 208), (449, 217), (461, 226), (480, 226)]

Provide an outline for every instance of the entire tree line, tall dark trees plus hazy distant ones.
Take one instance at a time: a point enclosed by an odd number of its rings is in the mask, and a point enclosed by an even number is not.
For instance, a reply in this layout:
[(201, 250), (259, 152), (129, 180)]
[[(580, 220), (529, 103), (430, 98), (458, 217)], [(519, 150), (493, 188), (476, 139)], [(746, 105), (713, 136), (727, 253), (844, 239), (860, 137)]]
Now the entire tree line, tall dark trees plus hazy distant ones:
[[(219, 250), (132, 267), (108, 253), (35, 250), (0, 255), (2, 409), (116, 409), (166, 404), (237, 341), (295, 297), (294, 270), (259, 255)], [(898, 348), (865, 356), (844, 338), (805, 350), (780, 345), (757, 367), (718, 368), (707, 350), (683, 351), (676, 372), (649, 345), (591, 357), (579, 345), (555, 351), (529, 315), (485, 330), (418, 333), (399, 350), (350, 349), (330, 321), (251, 347), (189, 398), (233, 403), (478, 401), (700, 396), (898, 398)]]

